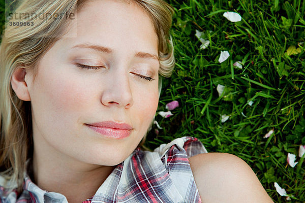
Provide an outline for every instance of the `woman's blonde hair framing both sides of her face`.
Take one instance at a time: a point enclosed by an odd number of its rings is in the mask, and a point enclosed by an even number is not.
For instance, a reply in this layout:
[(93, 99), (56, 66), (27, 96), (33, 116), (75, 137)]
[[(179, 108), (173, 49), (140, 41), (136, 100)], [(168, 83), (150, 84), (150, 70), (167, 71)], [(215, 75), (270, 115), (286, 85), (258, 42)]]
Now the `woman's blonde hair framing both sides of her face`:
[[(69, 16), (80, 10), (85, 2), (86, 0), (21, 1), (15, 13), (66, 13)], [(129, 2), (136, 3), (151, 18), (159, 40), (159, 74), (170, 77), (175, 63), (169, 33), (172, 7), (162, 0)], [(12, 21), (16, 19), (6, 23), (0, 47), (0, 171), (21, 190), (26, 160), (33, 155), (31, 103), (16, 96), (10, 80), (18, 67), (36, 71), (44, 53), (67, 31), (69, 20), (19, 19), (20, 22), (33, 22), (35, 26), (8, 26)], [(159, 79), (160, 96), (162, 77)]]

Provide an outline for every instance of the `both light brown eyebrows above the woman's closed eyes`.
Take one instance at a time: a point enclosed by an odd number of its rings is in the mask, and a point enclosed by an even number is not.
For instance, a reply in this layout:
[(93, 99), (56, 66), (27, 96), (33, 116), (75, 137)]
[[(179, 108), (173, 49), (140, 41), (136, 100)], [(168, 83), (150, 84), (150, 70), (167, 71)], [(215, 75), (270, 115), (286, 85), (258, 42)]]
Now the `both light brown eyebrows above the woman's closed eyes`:
[[(73, 48), (86, 48), (86, 49), (93, 49), (99, 52), (104, 52), (104, 53), (113, 53), (112, 49), (107, 48), (107, 47), (103, 47), (100, 45), (92, 45), (92, 44), (79, 44), (79, 45), (75, 45)], [(145, 52), (137, 52), (135, 54), (135, 57), (139, 57), (139, 58), (152, 58), (155, 60), (158, 60), (159, 62), (159, 57), (156, 54), (151, 54), (151, 53), (145, 53)]]

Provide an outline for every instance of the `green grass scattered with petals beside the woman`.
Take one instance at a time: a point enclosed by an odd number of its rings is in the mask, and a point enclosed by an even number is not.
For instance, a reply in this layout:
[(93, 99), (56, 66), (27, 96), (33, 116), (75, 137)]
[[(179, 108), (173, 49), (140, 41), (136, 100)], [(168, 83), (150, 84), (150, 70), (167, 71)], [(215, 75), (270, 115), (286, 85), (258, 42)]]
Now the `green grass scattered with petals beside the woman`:
[[(303, 159), (297, 157), (294, 168), (286, 160), (287, 153), (298, 155), (299, 145), (305, 145), (305, 49), (299, 44), (305, 38), (304, 1), (168, 2), (175, 8), (176, 66), (163, 80), (158, 111), (167, 111), (172, 100), (180, 107), (169, 118), (157, 114), (163, 129), (158, 136), (151, 130), (146, 145), (153, 149), (182, 136), (199, 138), (209, 152), (245, 160), (275, 202), (287, 200), (274, 182), (294, 196), (290, 202), (305, 202)], [(228, 21), (226, 11), (239, 13), (242, 21)], [(196, 29), (210, 41), (206, 49), (199, 49)], [(301, 52), (289, 56), (290, 45)], [(230, 57), (219, 63), (224, 50)], [(233, 67), (235, 61), (243, 62), (242, 70)], [(218, 84), (226, 86), (223, 97)], [(223, 114), (230, 116), (224, 123)], [(271, 129), (275, 133), (264, 139)]]

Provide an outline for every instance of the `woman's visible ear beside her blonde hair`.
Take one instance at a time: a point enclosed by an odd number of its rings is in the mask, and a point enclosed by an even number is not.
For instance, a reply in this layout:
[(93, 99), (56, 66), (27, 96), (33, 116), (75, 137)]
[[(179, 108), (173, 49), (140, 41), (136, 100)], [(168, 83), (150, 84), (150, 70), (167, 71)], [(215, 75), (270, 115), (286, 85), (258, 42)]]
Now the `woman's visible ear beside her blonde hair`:
[(26, 70), (24, 68), (18, 67), (12, 75), (11, 85), (19, 99), (24, 101), (31, 101), (31, 96), (29, 96), (27, 84), (24, 80), (25, 75)]

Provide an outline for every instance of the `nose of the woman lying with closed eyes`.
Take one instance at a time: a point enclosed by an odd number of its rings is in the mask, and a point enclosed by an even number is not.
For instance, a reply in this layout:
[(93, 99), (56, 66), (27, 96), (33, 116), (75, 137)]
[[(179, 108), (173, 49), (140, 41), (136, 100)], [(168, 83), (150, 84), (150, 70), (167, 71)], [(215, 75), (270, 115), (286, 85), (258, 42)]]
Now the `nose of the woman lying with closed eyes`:
[(103, 87), (101, 103), (104, 106), (130, 108), (133, 105), (128, 73), (109, 73), (107, 84)]

